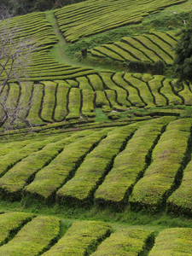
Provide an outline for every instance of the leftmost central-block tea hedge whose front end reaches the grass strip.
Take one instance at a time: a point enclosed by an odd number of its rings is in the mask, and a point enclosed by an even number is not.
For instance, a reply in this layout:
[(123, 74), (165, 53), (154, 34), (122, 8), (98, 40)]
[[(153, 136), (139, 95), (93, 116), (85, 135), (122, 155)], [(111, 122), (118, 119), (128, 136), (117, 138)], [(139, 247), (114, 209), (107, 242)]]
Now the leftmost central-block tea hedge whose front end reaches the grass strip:
[(44, 166), (49, 165), (51, 160), (54, 160), (71, 141), (70, 138), (67, 138), (56, 143), (49, 143), (38, 152), (29, 154), (26, 158), (20, 160), (0, 178), (1, 194), (13, 201), (20, 200), (22, 189), (26, 184), (32, 182), (35, 174), (43, 169)]

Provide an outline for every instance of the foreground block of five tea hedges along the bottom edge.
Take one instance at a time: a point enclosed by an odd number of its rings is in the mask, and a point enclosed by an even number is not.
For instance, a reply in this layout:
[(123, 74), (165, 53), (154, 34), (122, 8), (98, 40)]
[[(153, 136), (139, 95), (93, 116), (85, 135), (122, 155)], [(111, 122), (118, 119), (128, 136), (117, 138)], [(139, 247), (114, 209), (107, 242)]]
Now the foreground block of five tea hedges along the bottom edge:
[[(65, 220), (63, 221), (65, 222)], [(154, 231), (127, 226), (113, 230), (101, 221), (74, 221), (61, 236), (61, 219), (24, 212), (0, 215), (1, 255), (190, 255), (190, 228)], [(155, 238), (155, 240), (154, 240)]]

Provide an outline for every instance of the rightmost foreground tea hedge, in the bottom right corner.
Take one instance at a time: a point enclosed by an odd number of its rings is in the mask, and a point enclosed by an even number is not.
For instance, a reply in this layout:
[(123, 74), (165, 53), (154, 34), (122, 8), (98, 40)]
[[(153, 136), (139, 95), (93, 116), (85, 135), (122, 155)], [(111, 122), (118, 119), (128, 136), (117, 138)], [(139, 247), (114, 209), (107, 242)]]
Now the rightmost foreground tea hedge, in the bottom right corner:
[(192, 229), (190, 228), (162, 230), (155, 239), (154, 247), (148, 256), (189, 256), (192, 247), (191, 236)]

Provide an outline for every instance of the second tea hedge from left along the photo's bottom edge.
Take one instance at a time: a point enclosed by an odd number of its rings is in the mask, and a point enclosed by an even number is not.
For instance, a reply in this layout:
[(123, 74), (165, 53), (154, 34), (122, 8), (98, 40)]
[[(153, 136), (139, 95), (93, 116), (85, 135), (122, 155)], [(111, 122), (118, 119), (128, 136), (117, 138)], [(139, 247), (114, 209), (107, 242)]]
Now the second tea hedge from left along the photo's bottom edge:
[(57, 240), (59, 231), (59, 218), (44, 216), (33, 218), (12, 241), (0, 247), (0, 253), (13, 256), (40, 255)]

